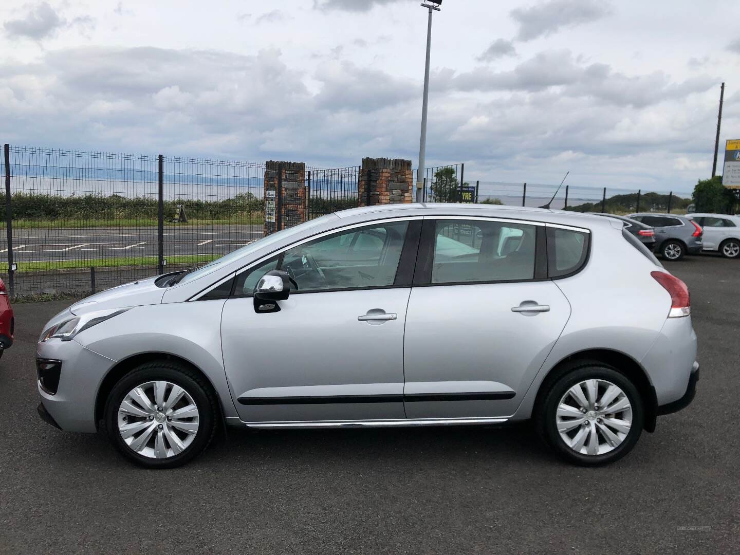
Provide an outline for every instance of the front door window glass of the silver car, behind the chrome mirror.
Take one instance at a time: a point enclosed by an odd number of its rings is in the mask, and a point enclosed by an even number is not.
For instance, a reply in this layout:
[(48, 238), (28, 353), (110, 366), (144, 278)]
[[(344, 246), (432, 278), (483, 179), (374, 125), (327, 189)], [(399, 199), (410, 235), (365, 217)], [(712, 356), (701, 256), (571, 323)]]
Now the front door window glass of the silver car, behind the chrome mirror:
[(376, 224), (294, 246), (238, 275), (235, 293), (252, 295), (273, 269), (288, 272), (299, 293), (391, 286), (407, 228), (408, 221)]

